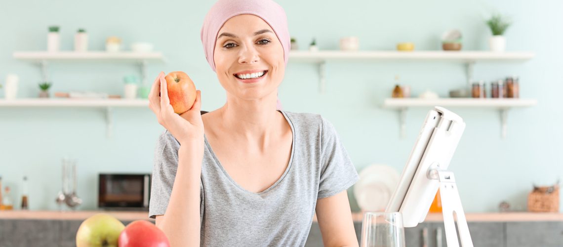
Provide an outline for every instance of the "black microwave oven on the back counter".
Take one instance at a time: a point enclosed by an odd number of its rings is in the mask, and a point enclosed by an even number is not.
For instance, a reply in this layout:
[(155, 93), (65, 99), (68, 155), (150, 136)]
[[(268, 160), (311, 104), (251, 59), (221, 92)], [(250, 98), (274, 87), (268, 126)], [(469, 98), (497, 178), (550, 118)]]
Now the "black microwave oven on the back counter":
[(149, 210), (150, 180), (150, 173), (100, 173), (98, 208)]

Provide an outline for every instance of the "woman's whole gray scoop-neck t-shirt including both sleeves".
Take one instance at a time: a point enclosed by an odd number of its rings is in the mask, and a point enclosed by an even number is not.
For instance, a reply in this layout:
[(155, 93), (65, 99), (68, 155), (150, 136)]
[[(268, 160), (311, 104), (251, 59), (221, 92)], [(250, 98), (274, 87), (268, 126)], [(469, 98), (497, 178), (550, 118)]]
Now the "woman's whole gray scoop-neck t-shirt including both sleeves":
[[(332, 124), (318, 114), (281, 112), (293, 132), (291, 158), (282, 177), (262, 192), (240, 187), (205, 138), (200, 186), (202, 246), (303, 246), (316, 201), (358, 181)], [(151, 185), (151, 218), (166, 212), (179, 148), (171, 133), (160, 135)]]

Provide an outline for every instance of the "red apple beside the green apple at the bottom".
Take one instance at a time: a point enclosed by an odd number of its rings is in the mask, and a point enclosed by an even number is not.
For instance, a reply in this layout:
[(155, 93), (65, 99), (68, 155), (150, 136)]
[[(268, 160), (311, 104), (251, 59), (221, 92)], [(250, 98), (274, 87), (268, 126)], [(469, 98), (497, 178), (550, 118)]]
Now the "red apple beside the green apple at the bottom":
[(119, 247), (169, 247), (168, 237), (148, 221), (133, 221), (119, 235)]

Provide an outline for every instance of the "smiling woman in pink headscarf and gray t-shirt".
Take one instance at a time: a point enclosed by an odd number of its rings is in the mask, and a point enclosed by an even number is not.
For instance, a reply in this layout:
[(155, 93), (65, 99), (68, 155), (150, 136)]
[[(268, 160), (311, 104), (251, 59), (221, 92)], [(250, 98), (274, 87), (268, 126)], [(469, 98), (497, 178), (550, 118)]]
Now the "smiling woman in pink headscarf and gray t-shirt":
[(346, 188), (358, 174), (336, 131), (319, 115), (276, 110), (289, 52), (282, 7), (219, 0), (202, 42), (224, 106), (200, 114), (198, 91), (194, 106), (175, 114), (164, 73), (150, 92), (167, 131), (149, 214), (172, 246), (303, 246), (315, 211), (326, 246), (357, 246)]

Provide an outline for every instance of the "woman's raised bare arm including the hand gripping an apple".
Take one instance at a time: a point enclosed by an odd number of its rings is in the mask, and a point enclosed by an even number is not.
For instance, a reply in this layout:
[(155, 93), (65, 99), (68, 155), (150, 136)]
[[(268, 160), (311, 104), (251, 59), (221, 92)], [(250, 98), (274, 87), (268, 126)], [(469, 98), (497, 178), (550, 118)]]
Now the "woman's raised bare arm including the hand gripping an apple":
[(178, 167), (168, 206), (164, 215), (156, 217), (156, 225), (166, 234), (172, 246), (199, 246), (199, 190), (204, 149), (201, 92), (196, 92), (191, 109), (178, 115), (170, 105), (167, 82), (164, 73), (160, 72), (149, 93), (149, 107), (157, 116), (158, 123), (180, 143)]

